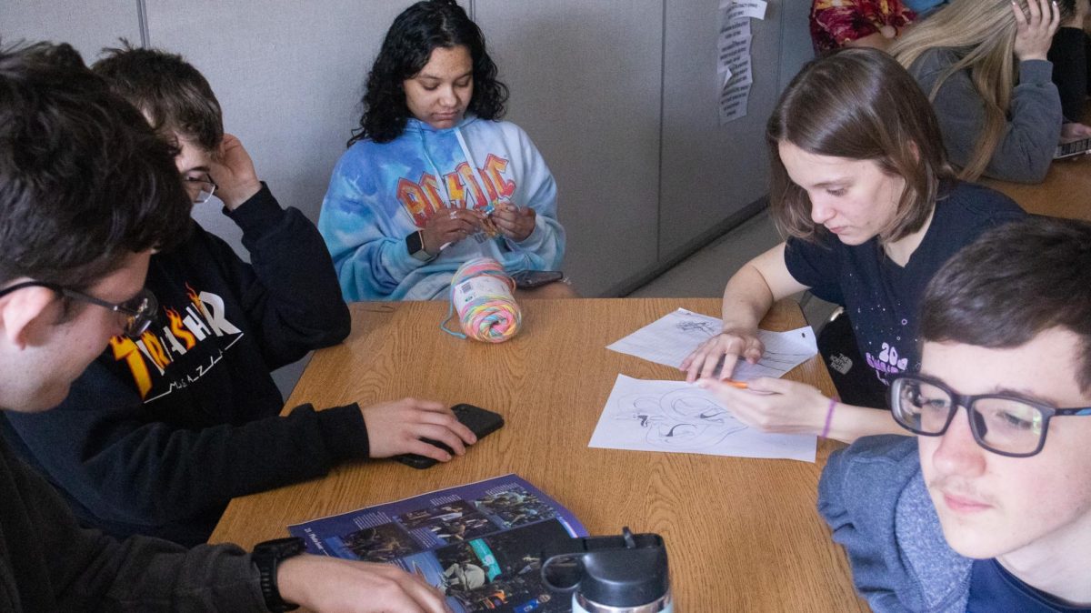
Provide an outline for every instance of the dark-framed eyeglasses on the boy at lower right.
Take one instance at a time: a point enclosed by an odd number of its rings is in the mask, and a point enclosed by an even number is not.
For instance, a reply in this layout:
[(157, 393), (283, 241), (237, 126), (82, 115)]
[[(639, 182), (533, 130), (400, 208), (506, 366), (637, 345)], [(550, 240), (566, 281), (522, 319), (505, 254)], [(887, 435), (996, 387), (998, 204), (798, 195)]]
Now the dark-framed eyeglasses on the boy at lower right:
[(947, 432), (959, 407), (966, 408), (970, 432), (979, 445), (1002, 456), (1024, 458), (1042, 450), (1050, 419), (1091, 416), (1091, 407), (1057, 409), (1006, 394), (956, 394), (942, 381), (902, 375), (890, 385), (894, 419), (923, 436)]

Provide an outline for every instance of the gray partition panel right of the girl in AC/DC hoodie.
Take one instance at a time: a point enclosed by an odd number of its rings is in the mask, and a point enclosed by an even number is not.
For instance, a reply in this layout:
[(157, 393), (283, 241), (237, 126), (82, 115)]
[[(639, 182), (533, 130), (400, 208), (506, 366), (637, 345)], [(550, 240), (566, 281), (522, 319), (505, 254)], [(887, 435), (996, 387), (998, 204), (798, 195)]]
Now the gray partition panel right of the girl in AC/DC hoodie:
[(509, 119), (556, 178), (576, 288), (609, 292), (655, 266), (662, 0), (473, 4), (512, 88)]

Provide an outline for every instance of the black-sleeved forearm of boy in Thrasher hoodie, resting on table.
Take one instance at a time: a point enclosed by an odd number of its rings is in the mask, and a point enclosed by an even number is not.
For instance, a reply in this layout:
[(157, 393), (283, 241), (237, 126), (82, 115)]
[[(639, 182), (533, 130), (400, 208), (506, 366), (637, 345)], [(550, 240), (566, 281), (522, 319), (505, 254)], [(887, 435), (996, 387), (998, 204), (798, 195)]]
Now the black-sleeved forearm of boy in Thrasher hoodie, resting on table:
[(104, 519), (164, 524), (321, 477), (337, 462), (365, 458), (368, 446), (356, 405), (325, 411), (303, 405), (241, 425), (145, 424), (108, 444), (88, 444), (83, 465), (59, 478), (73, 489), (93, 486), (99, 496), (84, 504)]

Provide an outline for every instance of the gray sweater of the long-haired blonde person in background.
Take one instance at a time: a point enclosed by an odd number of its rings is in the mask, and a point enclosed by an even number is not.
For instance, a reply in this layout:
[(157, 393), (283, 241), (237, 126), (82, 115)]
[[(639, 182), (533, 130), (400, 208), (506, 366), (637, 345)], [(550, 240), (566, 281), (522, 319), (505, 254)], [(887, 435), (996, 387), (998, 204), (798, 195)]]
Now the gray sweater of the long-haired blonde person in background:
[[(954, 49), (931, 49), (909, 72), (925, 95), (959, 59)], [(1060, 140), (1060, 95), (1051, 81), (1053, 64), (1045, 60), (1019, 63), (1018, 84), (1004, 135), (985, 168), (985, 176), (1020, 183), (1039, 183), (1053, 161)], [(969, 71), (957, 72), (944, 82), (933, 100), (944, 145), (951, 163), (964, 167), (973, 155), (985, 124), (985, 104), (973, 87)]]

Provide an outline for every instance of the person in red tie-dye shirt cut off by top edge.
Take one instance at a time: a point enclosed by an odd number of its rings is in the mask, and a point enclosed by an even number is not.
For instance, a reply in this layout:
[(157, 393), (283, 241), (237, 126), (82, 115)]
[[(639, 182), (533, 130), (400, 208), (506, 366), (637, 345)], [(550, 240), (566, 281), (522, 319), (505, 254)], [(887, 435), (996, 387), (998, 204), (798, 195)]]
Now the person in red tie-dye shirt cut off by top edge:
[(811, 41), (819, 56), (843, 47), (885, 51), (915, 20), (908, 0), (813, 0)]

